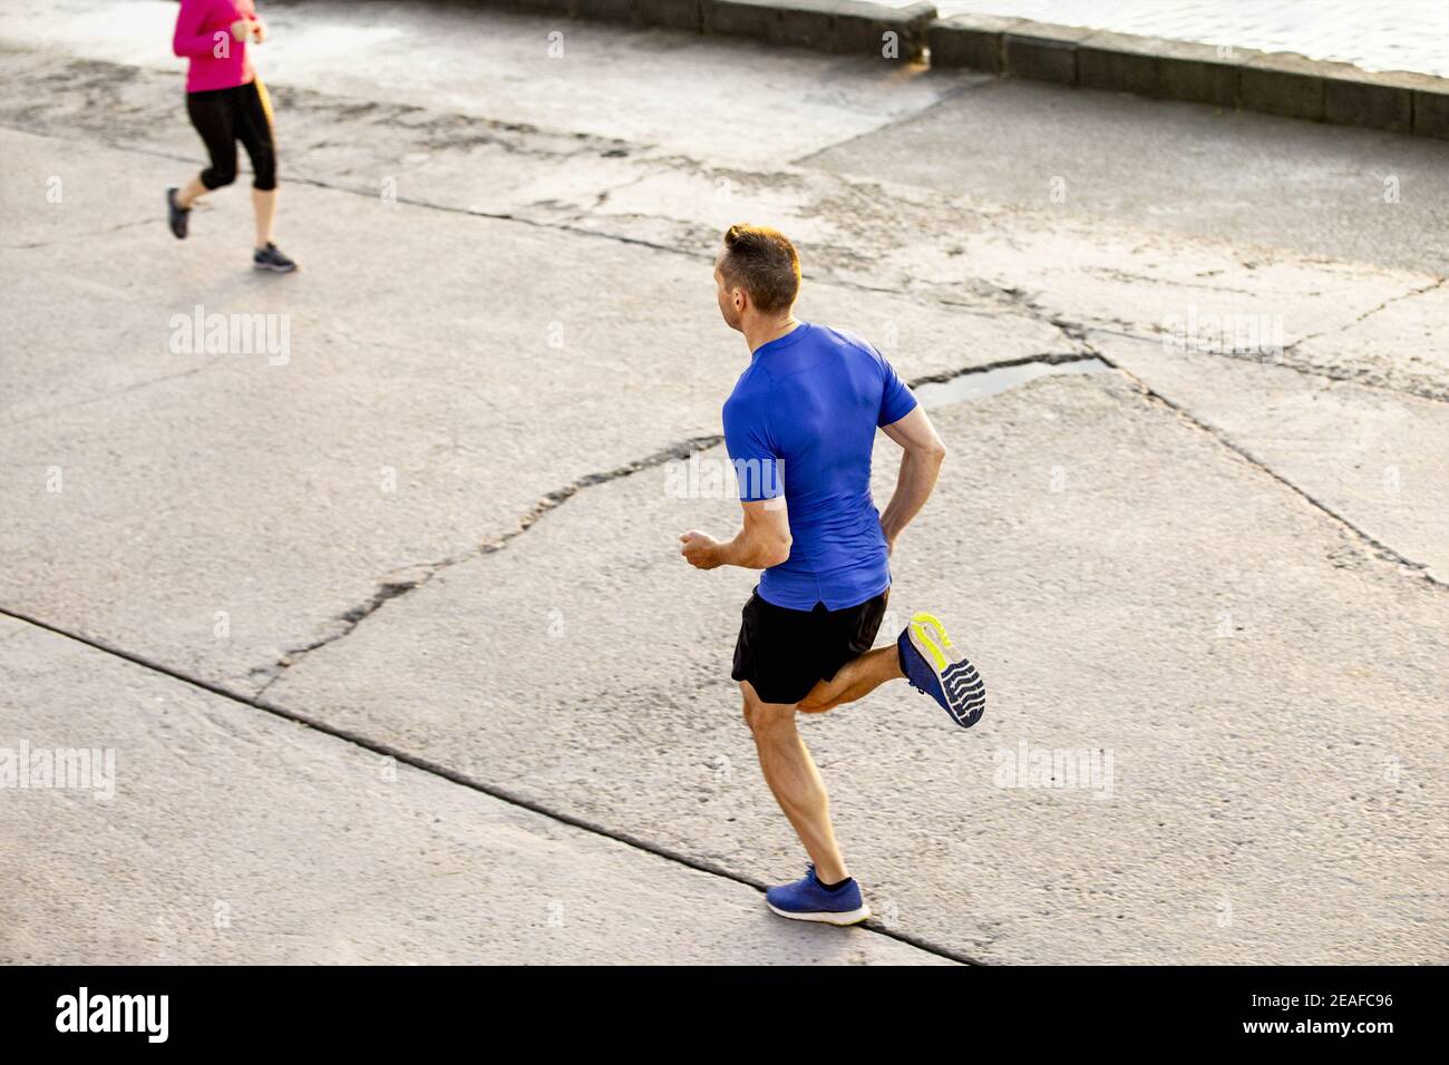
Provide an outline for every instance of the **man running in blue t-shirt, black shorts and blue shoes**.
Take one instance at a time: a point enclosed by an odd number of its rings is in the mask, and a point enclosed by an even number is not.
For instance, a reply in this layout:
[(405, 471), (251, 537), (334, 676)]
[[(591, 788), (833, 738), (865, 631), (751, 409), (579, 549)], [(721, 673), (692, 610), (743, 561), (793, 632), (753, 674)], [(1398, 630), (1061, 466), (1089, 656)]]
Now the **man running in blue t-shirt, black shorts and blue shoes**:
[[(981, 678), (930, 614), (916, 614), (894, 646), (871, 651), (891, 551), (935, 488), (946, 446), (875, 348), (794, 317), (800, 258), (782, 233), (730, 226), (714, 284), (724, 323), (751, 351), (724, 403), (743, 527), (727, 543), (687, 532), (681, 554), (700, 569), (764, 571), (745, 604), (730, 675), (765, 781), (811, 858), (803, 880), (769, 888), (765, 901), (781, 917), (855, 924), (871, 911), (840, 856), (796, 710), (822, 713), (906, 678), (956, 724), (981, 717)], [(877, 429), (904, 452), (885, 513), (871, 498)]]

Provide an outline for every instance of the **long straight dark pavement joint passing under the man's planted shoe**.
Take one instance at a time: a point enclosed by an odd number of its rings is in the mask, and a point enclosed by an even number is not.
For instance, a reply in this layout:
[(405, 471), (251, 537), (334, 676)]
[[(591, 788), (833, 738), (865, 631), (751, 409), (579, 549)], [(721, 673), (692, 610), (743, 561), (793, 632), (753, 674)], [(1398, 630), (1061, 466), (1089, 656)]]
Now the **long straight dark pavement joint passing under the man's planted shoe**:
[[(556, 810), (556, 809), (554, 809), (554, 807), (551, 807), (551, 806), (548, 806), (545, 803), (539, 803), (536, 800), (527, 798), (527, 797), (520, 795), (520, 794), (517, 794), (514, 791), (510, 791), (507, 788), (498, 787), (496, 784), (487, 784), (484, 781), (480, 781), (480, 780), (475, 780), (472, 777), (468, 777), (467, 774), (462, 774), (462, 772), (458, 772), (455, 769), (451, 769), (446, 765), (442, 765), (439, 762), (433, 762), (433, 761), (430, 761), (427, 758), (422, 758), (419, 755), (409, 753), (407, 751), (403, 751), (401, 748), (396, 748), (391, 743), (385, 743), (385, 742), (381, 742), (381, 740), (371, 739), (371, 738), (368, 738), (368, 736), (365, 736), (362, 733), (352, 732), (351, 729), (339, 729), (336, 726), (327, 724), (326, 722), (323, 722), (320, 719), (312, 717), (312, 716), (300, 713), (297, 710), (290, 710), (290, 709), (281, 706), (280, 703), (274, 703), (272, 700), (264, 700), (259, 693), (256, 696), (251, 696), (249, 697), (249, 696), (232, 691), (230, 688), (227, 688), (223, 684), (216, 684), (216, 682), (212, 682), (212, 681), (206, 681), (206, 680), (203, 680), (200, 677), (193, 677), (191, 674), (187, 674), (187, 672), (181, 671), (181, 669), (177, 669), (177, 668), (164, 665), (161, 662), (152, 661), (152, 659), (146, 658), (145, 655), (141, 655), (141, 653), (136, 653), (136, 652), (132, 652), (132, 651), (126, 651), (123, 648), (113, 646), (109, 642), (101, 640), (99, 638), (83, 636), (80, 633), (71, 632), (68, 629), (64, 629), (61, 626), (51, 625), (49, 622), (43, 622), (43, 620), (41, 620), (38, 617), (32, 617), (30, 614), (26, 614), (23, 611), (12, 610), (10, 607), (0, 606), (0, 616), (9, 617), (9, 619), (16, 620), (16, 622), (22, 622), (25, 625), (35, 626), (36, 629), (43, 629), (45, 632), (54, 633), (57, 636), (64, 636), (65, 639), (74, 640), (77, 643), (81, 643), (84, 646), (88, 646), (88, 648), (94, 649), (94, 651), (100, 651), (103, 653), (112, 655), (113, 658), (120, 658), (120, 659), (123, 659), (126, 662), (130, 662), (132, 665), (138, 665), (138, 667), (141, 667), (143, 669), (149, 669), (149, 671), (161, 674), (164, 677), (170, 677), (174, 681), (180, 681), (180, 682), (188, 684), (188, 685), (191, 685), (194, 688), (200, 688), (200, 690), (207, 691), (207, 693), (210, 693), (213, 696), (219, 696), (219, 697), (222, 697), (222, 698), (225, 698), (227, 701), (238, 703), (238, 704), (241, 704), (243, 707), (248, 707), (248, 709), (252, 709), (252, 710), (259, 710), (261, 713), (267, 713), (267, 714), (271, 714), (271, 716), (278, 717), (281, 720), (291, 722), (293, 724), (301, 724), (301, 726), (309, 727), (309, 729), (312, 729), (314, 732), (323, 733), (326, 736), (332, 736), (333, 739), (339, 739), (339, 740), (342, 740), (345, 743), (351, 743), (354, 746), (362, 748), (364, 751), (369, 751), (369, 752), (375, 753), (375, 755), (381, 755), (384, 758), (393, 758), (394, 761), (401, 762), (403, 765), (409, 765), (409, 767), (412, 767), (414, 769), (419, 769), (420, 772), (426, 772), (429, 775), (439, 777), (442, 780), (446, 780), (451, 784), (458, 784), (459, 787), (465, 787), (465, 788), (469, 788), (472, 791), (478, 791), (481, 794), (488, 795), (490, 798), (496, 798), (496, 800), (498, 800), (501, 803), (507, 803), (509, 806), (514, 806), (514, 807), (519, 807), (519, 809), (523, 809), (523, 810), (529, 810), (530, 813), (536, 813), (536, 814), (539, 814), (542, 817), (546, 817), (549, 820), (558, 822), (561, 824), (568, 824), (569, 827), (580, 829), (582, 832), (588, 832), (591, 835), (601, 836), (604, 839), (611, 839), (616, 843), (623, 843), (625, 846), (630, 846), (630, 848), (633, 848), (636, 851), (642, 851), (645, 853), (653, 855), (655, 858), (662, 858), (665, 861), (675, 862), (677, 865), (684, 865), (684, 866), (687, 866), (690, 869), (694, 869), (696, 872), (704, 872), (704, 874), (711, 875), (711, 877), (719, 877), (720, 880), (729, 880), (729, 881), (733, 881), (735, 884), (742, 884), (745, 887), (752, 887), (752, 888), (755, 888), (756, 891), (761, 891), (761, 893), (764, 893), (765, 888), (768, 887), (768, 884), (765, 884), (764, 881), (755, 880), (752, 877), (745, 877), (745, 875), (738, 874), (738, 872), (733, 872), (733, 871), (730, 871), (730, 869), (727, 869), (727, 868), (724, 868), (722, 865), (716, 865), (714, 862), (709, 862), (709, 861), (704, 861), (704, 859), (700, 859), (700, 858), (694, 858), (691, 855), (687, 855), (684, 852), (675, 851), (674, 848), (669, 848), (669, 846), (664, 846), (661, 843), (653, 843), (653, 842), (646, 840), (646, 839), (643, 839), (640, 836), (636, 836), (636, 835), (633, 835), (630, 832), (623, 832), (623, 830), (619, 830), (619, 829), (610, 829), (610, 827), (607, 827), (604, 824), (600, 824), (597, 822), (591, 822), (591, 820), (588, 820), (585, 817), (578, 817), (578, 816), (567, 813), (564, 810)], [(909, 932), (900, 932), (900, 930), (887, 927), (887, 926), (881, 924), (878, 922), (878, 919), (875, 919), (875, 917), (872, 917), (871, 920), (868, 920), (868, 922), (865, 922), (865, 923), (862, 923), (862, 924), (859, 924), (856, 927), (859, 927), (859, 929), (862, 929), (865, 932), (872, 932), (872, 933), (875, 933), (878, 936), (884, 936), (887, 939), (894, 939), (897, 942), (906, 943), (907, 946), (914, 946), (916, 949), (924, 951), (926, 953), (932, 953), (932, 955), (936, 955), (939, 958), (946, 958), (949, 961), (959, 962), (962, 965), (984, 965), (984, 962), (981, 962), (981, 961), (978, 961), (975, 958), (971, 958), (971, 956), (968, 956), (968, 955), (965, 955), (965, 953), (962, 953), (959, 951), (953, 951), (953, 949), (942, 946), (939, 943), (932, 943), (930, 940), (923, 939), (920, 936), (913, 936)]]

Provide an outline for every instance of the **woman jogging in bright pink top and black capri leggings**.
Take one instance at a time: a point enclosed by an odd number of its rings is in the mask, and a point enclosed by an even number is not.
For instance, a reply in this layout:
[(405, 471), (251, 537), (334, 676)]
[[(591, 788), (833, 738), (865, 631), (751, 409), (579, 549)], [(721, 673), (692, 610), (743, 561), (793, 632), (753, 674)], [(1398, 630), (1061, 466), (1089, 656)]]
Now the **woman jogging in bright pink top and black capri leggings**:
[(167, 190), (167, 213), (177, 239), (187, 235), (191, 204), (236, 180), (236, 142), (252, 161), (252, 213), (256, 245), (252, 265), (288, 274), (297, 264), (272, 243), (277, 217), (277, 148), (272, 143), (271, 100), (246, 55), (246, 42), (267, 39), (267, 25), (252, 0), (181, 0), (171, 49), (190, 58), (185, 109), (201, 135), (212, 165), (187, 183)]

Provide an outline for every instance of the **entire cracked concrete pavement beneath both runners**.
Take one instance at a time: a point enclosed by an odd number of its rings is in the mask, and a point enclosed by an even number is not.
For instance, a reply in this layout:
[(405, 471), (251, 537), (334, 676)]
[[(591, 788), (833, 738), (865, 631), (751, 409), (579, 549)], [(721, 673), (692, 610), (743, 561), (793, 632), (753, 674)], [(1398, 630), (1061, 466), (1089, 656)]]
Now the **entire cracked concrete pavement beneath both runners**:
[[(303, 271), (256, 278), (241, 188), (184, 243), (158, 217), (199, 161), (168, 17), (0, 7), (0, 609), (235, 700), (7, 623), (0, 746), (110, 736), (135, 791), (114, 836), (88, 797), (0, 791), (30, 874), (0, 956), (1443, 961), (1449, 145), (1235, 116), (1204, 159), (1187, 104), (1077, 93), (1048, 128), (1053, 90), (969, 74), (578, 23), (549, 59), (546, 19), (288, 4), (258, 62)], [(1235, 145), (1271, 174), (1224, 185)], [(803, 862), (727, 680), (751, 578), (674, 555), (736, 510), (671, 459), (717, 467), (745, 349), (709, 261), (742, 217), (798, 241), (806, 317), (909, 378), (1120, 368), (935, 412), (894, 622), (942, 613), (994, 700), (971, 733), (904, 688), (806, 726), (878, 913), (840, 948), (746, 887)], [(197, 304), (285, 322), (285, 358), (175, 351)], [(1213, 316), (1281, 351), (1174, 343)], [(378, 751), (438, 769), (398, 768), (401, 813), (359, 782)], [(223, 943), (184, 843), (236, 804), (209, 781), (278, 761), (245, 855), (197, 862), (265, 914)], [(304, 904), (374, 866), (377, 895)], [(540, 893), (582, 884), (587, 927), (540, 935)], [(613, 932), (640, 906), (667, 935)]]

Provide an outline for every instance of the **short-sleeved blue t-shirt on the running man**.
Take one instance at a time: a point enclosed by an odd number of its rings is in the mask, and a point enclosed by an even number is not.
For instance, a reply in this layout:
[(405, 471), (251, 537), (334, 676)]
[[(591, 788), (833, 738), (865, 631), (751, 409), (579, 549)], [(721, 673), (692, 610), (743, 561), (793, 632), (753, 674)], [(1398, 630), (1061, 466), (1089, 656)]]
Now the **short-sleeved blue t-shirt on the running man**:
[(759, 596), (791, 610), (843, 610), (891, 584), (871, 498), (875, 430), (916, 397), (859, 336), (801, 322), (751, 356), (724, 403), (724, 446), (745, 501), (785, 497), (790, 558)]

